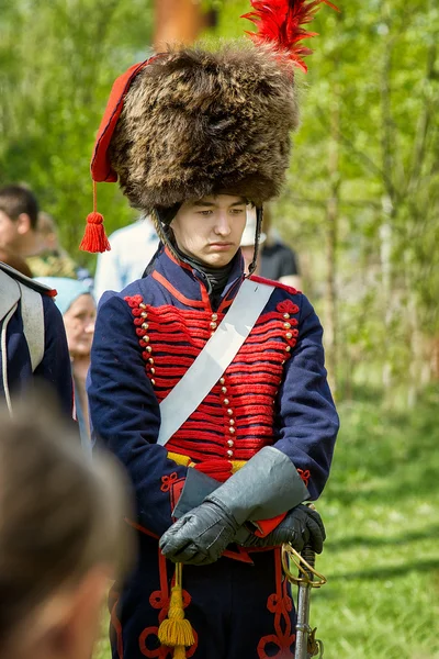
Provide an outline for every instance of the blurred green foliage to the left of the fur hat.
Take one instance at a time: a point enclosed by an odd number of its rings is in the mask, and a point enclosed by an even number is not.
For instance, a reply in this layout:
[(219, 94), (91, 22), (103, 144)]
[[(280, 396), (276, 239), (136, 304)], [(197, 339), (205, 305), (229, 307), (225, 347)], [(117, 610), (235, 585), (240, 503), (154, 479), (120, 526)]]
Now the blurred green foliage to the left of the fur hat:
[[(147, 56), (150, 34), (148, 0), (16, 0), (1, 12), (0, 183), (29, 183), (82, 260), (94, 135), (115, 77)], [(98, 199), (109, 231), (132, 220), (116, 186), (99, 186)]]

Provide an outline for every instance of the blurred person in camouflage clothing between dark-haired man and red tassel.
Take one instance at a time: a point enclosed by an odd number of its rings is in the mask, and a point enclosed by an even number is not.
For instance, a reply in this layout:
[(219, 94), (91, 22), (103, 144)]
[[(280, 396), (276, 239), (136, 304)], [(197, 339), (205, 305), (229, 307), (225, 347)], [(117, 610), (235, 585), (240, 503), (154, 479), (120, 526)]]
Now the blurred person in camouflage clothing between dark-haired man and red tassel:
[(87, 268), (80, 267), (61, 247), (54, 217), (41, 211), (36, 223), (37, 249), (26, 258), (34, 277), (68, 277), (85, 281), (89, 287), (93, 279)]

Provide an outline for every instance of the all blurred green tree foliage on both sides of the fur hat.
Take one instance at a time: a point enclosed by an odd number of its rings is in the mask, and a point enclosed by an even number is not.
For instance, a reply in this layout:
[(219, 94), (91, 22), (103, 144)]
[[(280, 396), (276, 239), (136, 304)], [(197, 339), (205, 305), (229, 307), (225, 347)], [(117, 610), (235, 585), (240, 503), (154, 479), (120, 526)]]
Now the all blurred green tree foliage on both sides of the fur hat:
[[(322, 5), (309, 71), (295, 76), (302, 126), (275, 224), (299, 254), (324, 325), (336, 306), (337, 340), (327, 347), (339, 391), (371, 372), (420, 389), (438, 376), (430, 353), (439, 332), (439, 10), (434, 0), (339, 4), (340, 13)], [(255, 30), (239, 18), (249, 0), (202, 7), (216, 12), (210, 38)], [(113, 80), (148, 54), (151, 8), (153, 0), (0, 0), (0, 185), (34, 188), (66, 248), (89, 266), (93, 257), (77, 245), (92, 205), (93, 139)], [(109, 232), (133, 219), (117, 186), (100, 185), (98, 196)]]

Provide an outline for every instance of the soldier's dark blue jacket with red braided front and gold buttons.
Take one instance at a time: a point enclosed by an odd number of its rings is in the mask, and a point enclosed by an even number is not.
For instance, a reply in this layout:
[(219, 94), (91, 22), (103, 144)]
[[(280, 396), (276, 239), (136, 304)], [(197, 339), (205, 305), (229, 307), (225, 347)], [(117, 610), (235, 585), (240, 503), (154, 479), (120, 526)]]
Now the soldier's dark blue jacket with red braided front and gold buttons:
[(157, 536), (171, 524), (162, 479), (173, 473), (183, 479), (187, 465), (224, 480), (230, 462), (271, 445), (291, 458), (312, 499), (329, 473), (338, 417), (322, 326), (308, 300), (281, 284), (222, 381), (166, 447), (156, 445), (160, 401), (215, 331), (241, 280), (237, 258), (212, 310), (202, 273), (165, 250), (151, 275), (121, 293), (105, 293), (100, 303), (89, 382), (92, 424), (127, 466), (138, 522)]

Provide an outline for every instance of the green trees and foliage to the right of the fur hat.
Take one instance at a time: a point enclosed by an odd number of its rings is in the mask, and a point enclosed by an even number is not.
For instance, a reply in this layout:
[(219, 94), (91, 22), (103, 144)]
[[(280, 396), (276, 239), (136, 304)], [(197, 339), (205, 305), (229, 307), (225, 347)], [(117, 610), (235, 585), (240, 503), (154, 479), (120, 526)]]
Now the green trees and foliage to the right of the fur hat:
[[(435, 377), (429, 342), (439, 332), (439, 10), (420, 0), (338, 4), (340, 13), (322, 5), (309, 71), (295, 77), (302, 126), (274, 215), (324, 325), (337, 305), (338, 347), (328, 347), (339, 383), (346, 371), (368, 380), (367, 361), (387, 370), (387, 383), (418, 388), (423, 369)], [(248, 7), (224, 1), (217, 33), (240, 34)], [(331, 266), (338, 299), (328, 302)]]

